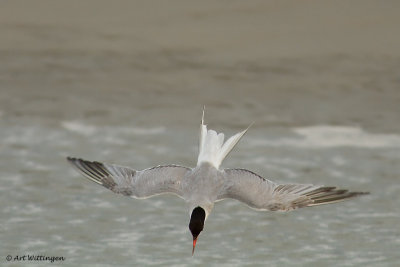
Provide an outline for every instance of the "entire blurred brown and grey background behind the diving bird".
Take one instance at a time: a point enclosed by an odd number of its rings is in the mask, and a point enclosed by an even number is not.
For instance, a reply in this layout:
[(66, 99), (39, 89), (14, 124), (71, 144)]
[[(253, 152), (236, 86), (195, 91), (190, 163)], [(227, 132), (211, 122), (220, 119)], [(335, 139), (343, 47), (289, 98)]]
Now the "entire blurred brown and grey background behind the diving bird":
[[(395, 266), (399, 10), (369, 0), (1, 1), (1, 265), (34, 254), (65, 266)], [(194, 166), (203, 105), (227, 135), (255, 122), (225, 167), (372, 194), (287, 214), (221, 202), (192, 258), (180, 199), (114, 195), (65, 160)]]

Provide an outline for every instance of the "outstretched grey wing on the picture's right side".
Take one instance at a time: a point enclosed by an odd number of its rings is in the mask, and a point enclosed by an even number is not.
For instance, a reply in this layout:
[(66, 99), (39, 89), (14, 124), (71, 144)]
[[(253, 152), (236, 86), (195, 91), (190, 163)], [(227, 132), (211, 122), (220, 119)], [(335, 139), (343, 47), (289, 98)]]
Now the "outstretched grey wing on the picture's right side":
[(225, 169), (222, 175), (218, 200), (233, 198), (259, 210), (289, 211), (367, 194), (311, 184), (276, 184), (245, 169)]

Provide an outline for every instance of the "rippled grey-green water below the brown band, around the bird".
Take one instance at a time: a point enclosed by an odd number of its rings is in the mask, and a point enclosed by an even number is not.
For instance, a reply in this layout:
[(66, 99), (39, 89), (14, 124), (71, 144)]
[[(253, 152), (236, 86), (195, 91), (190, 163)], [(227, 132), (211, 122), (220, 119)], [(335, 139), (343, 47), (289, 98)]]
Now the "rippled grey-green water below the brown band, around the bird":
[[(81, 178), (65, 156), (138, 168), (156, 162), (193, 166), (196, 123), (193, 129), (111, 128), (67, 121), (54, 127), (4, 121), (2, 126), (1, 232), (7, 242), (2, 242), (1, 251), (6, 255), (64, 256), (71, 265), (357, 266), (398, 260), (400, 186), (393, 181), (399, 171), (400, 136), (392, 140), (354, 130), (380, 145), (326, 147), (315, 137), (318, 128), (303, 128), (314, 131), (308, 136), (291, 136), (297, 128), (286, 129), (287, 134), (282, 129), (279, 135), (252, 129), (225, 166), (247, 167), (278, 181), (339, 185), (372, 194), (285, 214), (256, 212), (233, 200), (220, 202), (191, 258), (189, 218), (180, 199), (114, 195)], [(348, 128), (333, 129), (332, 139), (347, 140)], [(263, 144), (265, 140), (269, 142)]]

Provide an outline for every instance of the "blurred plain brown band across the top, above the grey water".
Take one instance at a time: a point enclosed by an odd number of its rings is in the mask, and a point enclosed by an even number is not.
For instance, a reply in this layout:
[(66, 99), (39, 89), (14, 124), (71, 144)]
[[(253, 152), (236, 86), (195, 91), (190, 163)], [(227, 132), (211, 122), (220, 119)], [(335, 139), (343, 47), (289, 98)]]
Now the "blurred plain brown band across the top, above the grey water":
[(0, 5), (7, 116), (129, 119), (151, 107), (146, 120), (186, 123), (206, 104), (229, 121), (400, 130), (398, 1)]

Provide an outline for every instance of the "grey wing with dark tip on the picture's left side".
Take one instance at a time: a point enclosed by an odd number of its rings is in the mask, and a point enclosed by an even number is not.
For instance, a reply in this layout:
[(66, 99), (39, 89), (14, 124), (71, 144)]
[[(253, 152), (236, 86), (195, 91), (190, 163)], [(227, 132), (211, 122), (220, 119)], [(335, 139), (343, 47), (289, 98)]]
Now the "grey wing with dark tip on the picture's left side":
[(157, 166), (142, 171), (97, 161), (67, 158), (86, 178), (114, 193), (148, 198), (172, 193), (181, 196), (180, 183), (190, 169), (177, 165)]

